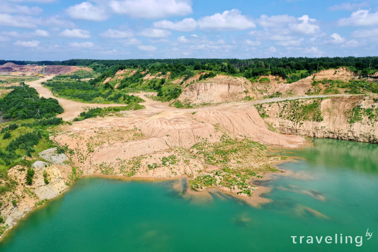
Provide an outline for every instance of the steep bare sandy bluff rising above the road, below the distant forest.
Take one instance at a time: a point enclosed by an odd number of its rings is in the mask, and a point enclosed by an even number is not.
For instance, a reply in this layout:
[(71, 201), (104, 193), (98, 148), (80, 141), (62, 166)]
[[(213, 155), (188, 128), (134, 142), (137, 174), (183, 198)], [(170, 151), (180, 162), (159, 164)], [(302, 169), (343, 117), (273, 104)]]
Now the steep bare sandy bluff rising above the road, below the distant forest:
[(203, 104), (236, 101), (246, 97), (246, 89), (242, 81), (230, 77), (217, 77), (189, 85), (178, 100), (184, 103)]

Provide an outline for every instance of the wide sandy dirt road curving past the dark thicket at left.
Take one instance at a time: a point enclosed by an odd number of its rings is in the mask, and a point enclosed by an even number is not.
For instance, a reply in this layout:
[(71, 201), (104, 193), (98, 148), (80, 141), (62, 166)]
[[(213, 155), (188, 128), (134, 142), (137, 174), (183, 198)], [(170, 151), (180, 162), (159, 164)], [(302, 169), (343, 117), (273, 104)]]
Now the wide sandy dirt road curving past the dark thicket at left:
[(81, 112), (84, 111), (85, 107), (100, 107), (100, 108), (107, 108), (107, 107), (118, 107), (118, 106), (125, 106), (125, 104), (90, 104), (90, 103), (83, 103), (83, 102), (74, 102), (72, 100), (66, 100), (62, 98), (55, 97), (50, 90), (45, 87), (42, 87), (42, 82), (46, 80), (52, 79), (55, 75), (51, 74), (43, 79), (38, 79), (30, 82), (25, 82), (30, 87), (33, 87), (39, 93), (39, 97), (45, 98), (54, 98), (59, 101), (59, 104), (64, 108), (64, 113), (58, 115), (58, 117), (62, 117), (64, 121), (71, 121), (75, 117), (77, 117)]

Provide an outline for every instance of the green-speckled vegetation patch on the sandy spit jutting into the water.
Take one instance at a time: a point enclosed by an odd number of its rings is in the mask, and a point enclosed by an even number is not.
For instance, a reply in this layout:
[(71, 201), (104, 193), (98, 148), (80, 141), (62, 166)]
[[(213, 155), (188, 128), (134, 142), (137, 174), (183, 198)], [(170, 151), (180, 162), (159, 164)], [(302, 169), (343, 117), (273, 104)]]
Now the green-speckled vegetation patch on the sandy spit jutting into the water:
[[(189, 179), (189, 185), (193, 190), (204, 187), (223, 186), (237, 191), (237, 194), (245, 193), (252, 195), (253, 186), (249, 181), (254, 178), (261, 178), (265, 172), (275, 172), (269, 164), (259, 165), (258, 162), (267, 161), (265, 145), (243, 139), (229, 138), (222, 136), (222, 142), (209, 143), (207, 141), (195, 144), (192, 149), (196, 149), (199, 157), (204, 159), (206, 164), (217, 165), (220, 170), (207, 171), (203, 175)], [(231, 160), (237, 165), (229, 165)]]

